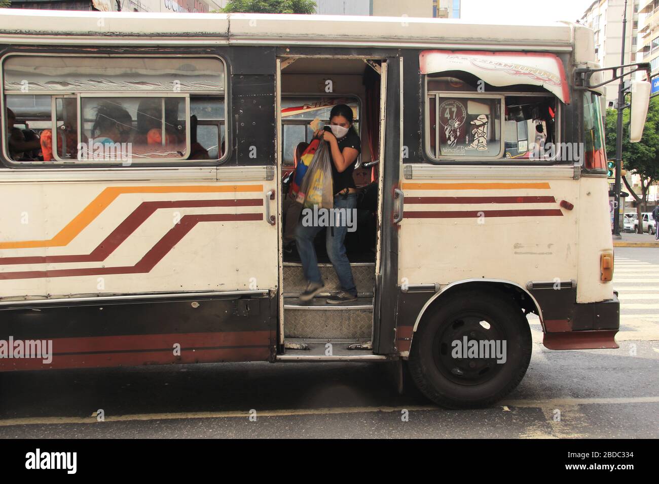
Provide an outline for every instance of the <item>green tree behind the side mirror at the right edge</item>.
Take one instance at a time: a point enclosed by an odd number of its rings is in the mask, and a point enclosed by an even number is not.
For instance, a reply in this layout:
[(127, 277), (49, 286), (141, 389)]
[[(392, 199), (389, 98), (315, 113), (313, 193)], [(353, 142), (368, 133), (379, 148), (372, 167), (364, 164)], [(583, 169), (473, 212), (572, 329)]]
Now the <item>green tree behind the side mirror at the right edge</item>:
[[(616, 157), (616, 109), (606, 110), (606, 155), (608, 158)], [(650, 185), (659, 180), (659, 97), (650, 99), (648, 117), (643, 129), (643, 138), (638, 143), (629, 142), (629, 109), (623, 111), (623, 142), (622, 160), (623, 169), (629, 173), (641, 176), (641, 194), (637, 194), (629, 186), (629, 182), (623, 176), (622, 180), (637, 202), (637, 214), (639, 217), (639, 233), (643, 230), (641, 223), (641, 211), (647, 211), (648, 192)], [(643, 210), (641, 207), (643, 206)]]

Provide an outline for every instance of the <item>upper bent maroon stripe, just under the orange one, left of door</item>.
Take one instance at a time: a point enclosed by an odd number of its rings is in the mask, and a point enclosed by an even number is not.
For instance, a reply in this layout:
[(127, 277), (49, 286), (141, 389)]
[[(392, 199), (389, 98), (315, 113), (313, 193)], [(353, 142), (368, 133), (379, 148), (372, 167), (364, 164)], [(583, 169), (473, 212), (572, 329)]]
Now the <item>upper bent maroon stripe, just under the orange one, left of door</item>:
[(160, 208), (194, 207), (258, 207), (263, 205), (260, 198), (238, 198), (235, 200), (171, 200), (163, 202), (142, 202), (130, 215), (101, 242), (91, 254), (45, 255), (32, 257), (0, 257), (0, 265), (38, 264), (55, 262), (102, 262), (117, 247), (129, 238), (130, 234)]

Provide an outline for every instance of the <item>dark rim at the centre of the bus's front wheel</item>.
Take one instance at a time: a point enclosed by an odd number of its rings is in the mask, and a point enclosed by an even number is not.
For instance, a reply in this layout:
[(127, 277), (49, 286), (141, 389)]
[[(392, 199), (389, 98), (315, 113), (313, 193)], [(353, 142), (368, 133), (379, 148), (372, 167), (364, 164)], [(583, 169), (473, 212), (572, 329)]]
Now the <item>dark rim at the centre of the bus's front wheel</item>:
[[(494, 341), (494, 345), (480, 343), (486, 341)], [(435, 365), (453, 383), (466, 386), (486, 383), (505, 366), (505, 363), (497, 363), (496, 356), (496, 350), (504, 350), (503, 341), (507, 342), (503, 325), (491, 315), (478, 311), (456, 313), (435, 333), (432, 348)], [(469, 353), (474, 344), (478, 350), (476, 358)], [(490, 358), (484, 358), (487, 352)]]

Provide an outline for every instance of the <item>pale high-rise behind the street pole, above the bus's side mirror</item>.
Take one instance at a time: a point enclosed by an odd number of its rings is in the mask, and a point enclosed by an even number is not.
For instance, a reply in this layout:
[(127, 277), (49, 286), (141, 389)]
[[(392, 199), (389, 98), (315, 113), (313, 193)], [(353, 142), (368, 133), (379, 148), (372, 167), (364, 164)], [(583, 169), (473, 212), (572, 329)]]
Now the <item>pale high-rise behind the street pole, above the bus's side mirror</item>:
[[(627, 25), (625, 27), (625, 61), (630, 64), (636, 61), (639, 34), (639, 1), (627, 0)], [(579, 20), (595, 34), (595, 54), (602, 67), (620, 65), (622, 57), (622, 30), (625, 0), (595, 0)], [(617, 102), (617, 82), (606, 86), (606, 101), (608, 107), (614, 107)]]

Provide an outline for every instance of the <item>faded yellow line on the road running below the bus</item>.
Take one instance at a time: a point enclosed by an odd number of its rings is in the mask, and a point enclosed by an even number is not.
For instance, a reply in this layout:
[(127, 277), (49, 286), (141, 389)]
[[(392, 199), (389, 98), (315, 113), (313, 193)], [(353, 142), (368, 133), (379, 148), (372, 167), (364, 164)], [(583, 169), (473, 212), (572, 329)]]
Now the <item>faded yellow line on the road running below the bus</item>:
[[(601, 404), (634, 404), (634, 403), (659, 403), (659, 396), (635, 396), (623, 398), (551, 398), (549, 400), (505, 400), (491, 408), (501, 406), (520, 408), (556, 408), (557, 406), (575, 405), (601, 405)], [(337, 408), (295, 408), (287, 410), (261, 410), (257, 411), (258, 417), (288, 417), (302, 415), (329, 415), (329, 414), (370, 414), (376, 412), (396, 412), (401, 410), (411, 412), (420, 410), (445, 410), (434, 405), (401, 405), (397, 407), (337, 407)], [(150, 420), (173, 420), (193, 418), (248, 418), (248, 411), (226, 411), (226, 412), (167, 412), (161, 414), (129, 414), (119, 416), (106, 416), (104, 423), (119, 421), (150, 421)], [(0, 420), (0, 427), (10, 425), (61, 425), (64, 423), (98, 423), (96, 417), (27, 417)]]

